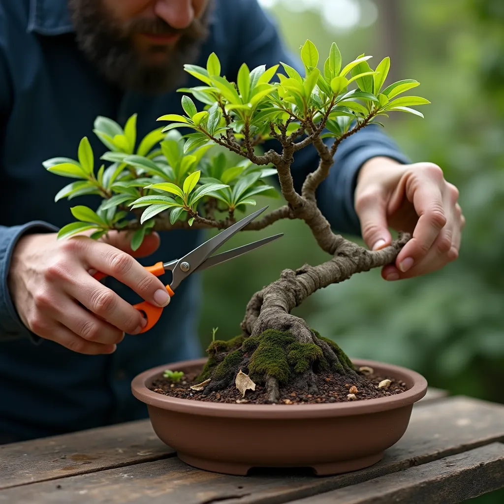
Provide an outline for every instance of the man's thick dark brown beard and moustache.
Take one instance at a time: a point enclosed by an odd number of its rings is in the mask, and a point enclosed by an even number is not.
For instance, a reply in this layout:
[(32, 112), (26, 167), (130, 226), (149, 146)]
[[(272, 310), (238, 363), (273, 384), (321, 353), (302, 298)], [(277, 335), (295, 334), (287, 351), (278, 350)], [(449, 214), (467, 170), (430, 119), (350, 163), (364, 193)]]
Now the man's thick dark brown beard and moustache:
[[(184, 83), (184, 64), (194, 64), (208, 36), (211, 2), (200, 19), (177, 30), (162, 19), (137, 19), (120, 24), (104, 8), (102, 0), (69, 0), (79, 48), (110, 82), (122, 89), (149, 94), (173, 91)], [(171, 47), (152, 45), (150, 51), (164, 53), (162, 62), (149, 64), (148, 55), (134, 47), (136, 33), (180, 34)]]

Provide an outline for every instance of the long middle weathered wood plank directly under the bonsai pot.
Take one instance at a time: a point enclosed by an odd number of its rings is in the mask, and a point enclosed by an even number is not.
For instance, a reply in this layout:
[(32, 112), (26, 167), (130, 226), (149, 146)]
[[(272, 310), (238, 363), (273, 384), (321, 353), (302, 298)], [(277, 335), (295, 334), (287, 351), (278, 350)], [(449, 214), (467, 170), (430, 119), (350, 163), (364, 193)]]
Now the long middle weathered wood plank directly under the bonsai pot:
[[(209, 433), (211, 435), (211, 433)], [(464, 397), (414, 408), (404, 437), (372, 467), (333, 477), (287, 472), (248, 477), (200, 471), (168, 458), (0, 491), (0, 502), (149, 502), (277, 504), (355, 485), (467, 450), (504, 441), (504, 406)], [(239, 443), (239, 440), (230, 440)], [(57, 488), (57, 485), (60, 488)]]

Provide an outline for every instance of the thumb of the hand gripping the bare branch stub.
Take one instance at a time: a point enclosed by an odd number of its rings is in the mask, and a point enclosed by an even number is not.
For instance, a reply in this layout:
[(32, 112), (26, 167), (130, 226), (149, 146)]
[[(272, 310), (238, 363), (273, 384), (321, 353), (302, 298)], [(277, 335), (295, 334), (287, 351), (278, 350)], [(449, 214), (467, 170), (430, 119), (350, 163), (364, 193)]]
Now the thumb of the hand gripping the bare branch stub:
[(387, 225), (387, 205), (379, 190), (360, 194), (355, 200), (362, 238), (371, 250), (390, 245), (392, 236)]

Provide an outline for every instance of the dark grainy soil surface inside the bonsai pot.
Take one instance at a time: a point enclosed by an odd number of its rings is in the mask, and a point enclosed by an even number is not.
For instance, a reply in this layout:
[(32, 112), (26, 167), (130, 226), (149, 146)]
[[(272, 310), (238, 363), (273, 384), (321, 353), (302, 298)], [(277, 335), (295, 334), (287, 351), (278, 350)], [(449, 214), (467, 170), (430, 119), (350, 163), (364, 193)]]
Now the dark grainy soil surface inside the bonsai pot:
[[(195, 399), (199, 401), (210, 401), (216, 403), (239, 403), (239, 404), (268, 404), (266, 387), (256, 385), (256, 390), (247, 390), (245, 397), (232, 386), (219, 392), (206, 394), (204, 390), (196, 391), (191, 386), (198, 385), (195, 378), (201, 370), (196, 370), (185, 374), (179, 382), (173, 382), (162, 375), (154, 380), (150, 390), (165, 396), (177, 397), (179, 399)], [(407, 389), (406, 384), (397, 381), (393, 376), (382, 376), (380, 374), (364, 374), (358, 372), (354, 380), (348, 376), (341, 376), (337, 373), (321, 372), (317, 374), (317, 387), (320, 394), (306, 394), (295, 390), (294, 386), (287, 385), (280, 388), (281, 404), (317, 404), (335, 403), (347, 401), (361, 401), (400, 394)], [(378, 388), (384, 381), (390, 380), (388, 388)], [(348, 394), (354, 394), (355, 398), (348, 398)]]

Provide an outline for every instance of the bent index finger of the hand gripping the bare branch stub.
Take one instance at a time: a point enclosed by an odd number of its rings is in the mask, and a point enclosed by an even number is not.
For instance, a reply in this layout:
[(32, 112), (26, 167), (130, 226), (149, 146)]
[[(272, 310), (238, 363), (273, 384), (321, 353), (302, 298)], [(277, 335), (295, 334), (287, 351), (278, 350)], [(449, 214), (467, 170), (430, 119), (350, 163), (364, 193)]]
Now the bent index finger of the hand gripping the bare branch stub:
[(413, 193), (413, 205), (419, 219), (411, 240), (397, 256), (396, 266), (403, 273), (424, 258), (447, 223), (440, 187), (432, 179), (418, 182)]

